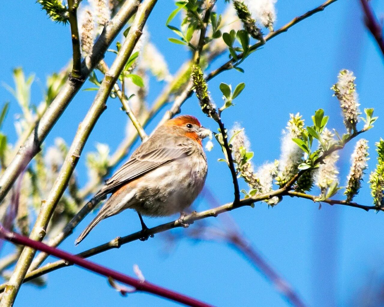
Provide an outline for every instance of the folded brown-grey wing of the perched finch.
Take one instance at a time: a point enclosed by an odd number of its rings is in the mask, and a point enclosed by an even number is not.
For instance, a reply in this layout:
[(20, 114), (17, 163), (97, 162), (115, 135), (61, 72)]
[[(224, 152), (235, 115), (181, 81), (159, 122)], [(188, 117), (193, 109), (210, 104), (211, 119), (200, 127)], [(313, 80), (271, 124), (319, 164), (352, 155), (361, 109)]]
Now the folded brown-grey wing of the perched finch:
[[(128, 183), (164, 164), (179, 158), (187, 157), (193, 152), (192, 144), (186, 142), (165, 142), (159, 148), (152, 148), (152, 144), (143, 143), (133, 154), (132, 157), (109, 178), (99, 194), (106, 195), (113, 192), (122, 184)], [(158, 143), (157, 143), (158, 144)]]

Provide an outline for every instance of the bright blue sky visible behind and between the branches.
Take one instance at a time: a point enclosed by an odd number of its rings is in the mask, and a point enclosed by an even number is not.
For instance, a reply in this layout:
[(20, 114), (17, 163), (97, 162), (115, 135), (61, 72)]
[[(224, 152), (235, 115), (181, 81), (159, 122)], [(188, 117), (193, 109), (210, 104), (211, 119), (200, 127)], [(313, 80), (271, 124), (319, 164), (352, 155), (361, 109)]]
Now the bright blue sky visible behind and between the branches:
[[(320, 3), (321, 0), (278, 1), (276, 28)], [(384, 12), (384, 5), (378, 0), (371, 3), (377, 12)], [(148, 21), (152, 40), (165, 54), (172, 73), (188, 56), (182, 46), (167, 41), (172, 33), (164, 24), (173, 9), (172, 1), (159, 0)], [(309, 121), (314, 111), (321, 107), (331, 116), (329, 127), (343, 130), (338, 101), (331, 97), (329, 88), (335, 83), (338, 71), (346, 68), (353, 70), (357, 77), (361, 108), (374, 107), (379, 116), (374, 129), (364, 135), (371, 147), (369, 172), (374, 168), (374, 142), (384, 137), (384, 63), (364, 28), (359, 9), (357, 0), (339, 0), (253, 53), (242, 65), (244, 74), (225, 72), (209, 83), (212, 97), (217, 102), (221, 100), (220, 82), (247, 84), (237, 105), (225, 112), (223, 120), (228, 127), (235, 121), (245, 127), (255, 151), (255, 165), (279, 157), (281, 130), (289, 113), (300, 112)], [(26, 74), (35, 73), (32, 101), (38, 103), (46, 76), (58, 71), (71, 58), (69, 27), (48, 20), (34, 1), (4, 1), (0, 9), (0, 27), (3, 41), (0, 81), (12, 85), (12, 69), (17, 66), (22, 66)], [(218, 67), (226, 59), (222, 56), (211, 68)], [(156, 98), (161, 86), (151, 82), (149, 102)], [(93, 95), (94, 92), (81, 91), (76, 96), (49, 134), (48, 145), (55, 137), (71, 142)], [(15, 140), (13, 114), (19, 112), (18, 106), (3, 87), (0, 87), (0, 97), (1, 102), (11, 101), (10, 115), (3, 129), (11, 140)], [(201, 113), (195, 97), (185, 103), (182, 113), (198, 116), (203, 125), (216, 130), (215, 123)], [(119, 102), (110, 99), (84, 152), (94, 150), (96, 142), (107, 143), (115, 149), (124, 135), (125, 116), (119, 111)], [(155, 124), (156, 119), (148, 132)], [(342, 185), (353, 147), (354, 144), (350, 144), (340, 153)], [(232, 200), (231, 178), (225, 164), (217, 162), (219, 156), (218, 146), (208, 153), (207, 186), (220, 202), (225, 203)], [(84, 158), (76, 172), (80, 183), (84, 184), (87, 179)], [(367, 176), (365, 178), (367, 181)], [(356, 201), (371, 204), (367, 185), (361, 189)], [(196, 201), (195, 205), (200, 210), (207, 207), (204, 201)], [(275, 208), (258, 203), (254, 209), (241, 208), (230, 215), (308, 306), (351, 306), (362, 287), (372, 278), (371, 286), (375, 286), (383, 277), (382, 213), (328, 205), (318, 210), (318, 205), (311, 201), (285, 199)], [(74, 238), (91, 218), (88, 216), (61, 248), (77, 253), (136, 231), (139, 226), (136, 214), (126, 211), (101, 223), (84, 243), (75, 248)], [(148, 226), (155, 226), (169, 220), (147, 218), (146, 222)], [(148, 281), (220, 307), (289, 306), (246, 259), (219, 243), (193, 244), (184, 240), (175, 249), (164, 252), (164, 241), (156, 235), (144, 243), (133, 242), (91, 259), (131, 275), (132, 265), (138, 264)], [(147, 294), (121, 297), (109, 287), (105, 278), (78, 267), (50, 273), (44, 289), (23, 286), (15, 303), (16, 307), (68, 305), (176, 306)]]

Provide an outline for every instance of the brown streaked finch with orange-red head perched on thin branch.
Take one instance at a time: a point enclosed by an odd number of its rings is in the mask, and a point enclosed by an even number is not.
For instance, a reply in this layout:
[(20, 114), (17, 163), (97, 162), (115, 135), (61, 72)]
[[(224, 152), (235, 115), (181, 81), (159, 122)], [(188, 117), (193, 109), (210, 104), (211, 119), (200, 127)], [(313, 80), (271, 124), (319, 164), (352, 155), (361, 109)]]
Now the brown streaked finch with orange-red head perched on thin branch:
[[(142, 214), (169, 216), (189, 207), (202, 190), (207, 176), (207, 158), (201, 140), (210, 134), (194, 116), (168, 120), (137, 148), (131, 158), (106, 181), (94, 202), (112, 193), (98, 215), (76, 239), (79, 244), (104, 218), (131, 208)], [(142, 240), (148, 236), (143, 236)]]

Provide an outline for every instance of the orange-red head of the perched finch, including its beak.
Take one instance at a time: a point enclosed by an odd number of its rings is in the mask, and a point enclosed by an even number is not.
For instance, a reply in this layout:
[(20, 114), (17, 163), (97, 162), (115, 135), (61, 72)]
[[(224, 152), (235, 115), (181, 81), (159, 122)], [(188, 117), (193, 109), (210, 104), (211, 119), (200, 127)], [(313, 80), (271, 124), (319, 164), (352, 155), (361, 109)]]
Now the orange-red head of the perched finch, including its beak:
[(179, 134), (182, 134), (202, 145), (201, 140), (209, 136), (211, 131), (202, 127), (199, 120), (191, 115), (182, 115), (168, 120), (166, 127), (177, 127)]

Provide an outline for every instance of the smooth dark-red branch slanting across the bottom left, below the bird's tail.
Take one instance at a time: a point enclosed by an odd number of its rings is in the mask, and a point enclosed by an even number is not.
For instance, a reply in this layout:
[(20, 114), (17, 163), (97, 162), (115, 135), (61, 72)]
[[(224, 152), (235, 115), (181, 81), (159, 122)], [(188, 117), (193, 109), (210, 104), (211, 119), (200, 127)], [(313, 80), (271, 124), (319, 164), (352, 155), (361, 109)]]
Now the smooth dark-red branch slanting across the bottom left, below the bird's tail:
[(206, 304), (192, 297), (188, 297), (172, 290), (156, 286), (155, 284), (151, 284), (147, 281), (141, 281), (139, 279), (124, 275), (112, 269), (108, 269), (107, 267), (100, 266), (99, 264), (96, 264), (92, 261), (88, 261), (79, 256), (75, 256), (73, 254), (62, 251), (61, 249), (53, 248), (39, 241), (31, 240), (30, 238), (22, 236), (21, 234), (8, 231), (2, 225), (0, 225), (0, 235), (7, 241), (37, 249), (44, 253), (50, 254), (52, 256), (81, 266), (84, 269), (88, 269), (89, 271), (98, 273), (106, 277), (110, 277), (116, 281), (132, 286), (136, 289), (136, 291), (156, 294), (161, 297), (165, 297), (167, 299), (174, 300), (175, 302), (179, 302), (191, 307), (213, 307), (212, 305)]

